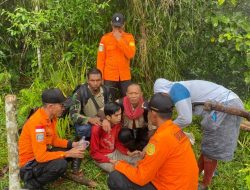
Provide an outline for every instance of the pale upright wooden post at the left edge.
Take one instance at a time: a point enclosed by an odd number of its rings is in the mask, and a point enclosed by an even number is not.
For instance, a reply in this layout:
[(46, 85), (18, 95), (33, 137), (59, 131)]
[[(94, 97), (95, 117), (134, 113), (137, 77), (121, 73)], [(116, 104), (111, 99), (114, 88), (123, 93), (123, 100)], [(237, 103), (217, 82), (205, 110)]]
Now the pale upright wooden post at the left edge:
[(9, 190), (20, 189), (18, 149), (17, 149), (17, 122), (16, 122), (16, 96), (5, 97), (6, 128), (9, 161)]

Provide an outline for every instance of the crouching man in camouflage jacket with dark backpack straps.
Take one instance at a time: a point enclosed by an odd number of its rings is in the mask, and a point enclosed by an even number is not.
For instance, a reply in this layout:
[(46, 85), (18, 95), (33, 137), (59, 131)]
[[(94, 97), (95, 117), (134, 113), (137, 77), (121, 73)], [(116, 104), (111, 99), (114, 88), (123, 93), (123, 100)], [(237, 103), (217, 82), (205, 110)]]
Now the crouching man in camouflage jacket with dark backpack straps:
[[(108, 88), (102, 85), (102, 73), (99, 69), (91, 69), (87, 78), (87, 83), (82, 84), (73, 94), (73, 105), (70, 107), (76, 139), (81, 139), (83, 136), (89, 139), (93, 125), (105, 126), (104, 104), (111, 100)], [(110, 128), (109, 122), (106, 123)], [(73, 173), (82, 175), (80, 165), (81, 159), (73, 160)]]

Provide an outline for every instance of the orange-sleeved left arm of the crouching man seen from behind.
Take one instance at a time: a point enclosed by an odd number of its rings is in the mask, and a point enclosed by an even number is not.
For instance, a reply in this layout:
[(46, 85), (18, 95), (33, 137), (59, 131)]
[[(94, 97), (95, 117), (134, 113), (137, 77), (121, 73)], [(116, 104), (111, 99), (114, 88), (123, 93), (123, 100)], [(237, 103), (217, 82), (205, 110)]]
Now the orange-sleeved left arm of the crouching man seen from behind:
[(160, 147), (157, 141), (151, 140), (146, 147), (144, 159), (139, 161), (137, 166), (132, 166), (125, 161), (118, 161), (115, 169), (133, 183), (143, 186), (154, 179), (162, 164), (166, 162), (167, 155), (167, 146)]

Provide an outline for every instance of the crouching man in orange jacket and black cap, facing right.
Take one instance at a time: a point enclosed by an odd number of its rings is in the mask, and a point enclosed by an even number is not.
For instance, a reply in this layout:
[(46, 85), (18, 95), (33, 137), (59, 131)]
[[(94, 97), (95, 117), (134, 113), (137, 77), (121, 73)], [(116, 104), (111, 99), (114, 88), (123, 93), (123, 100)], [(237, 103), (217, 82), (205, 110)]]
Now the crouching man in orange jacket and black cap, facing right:
[[(43, 91), (43, 106), (23, 126), (19, 166), (27, 189), (42, 189), (46, 183), (62, 176), (67, 169), (65, 158), (83, 157), (84, 148), (79, 148), (78, 142), (61, 139), (56, 132), (57, 117), (64, 110), (65, 100), (58, 88)], [(61, 147), (63, 151), (54, 151), (52, 147)]]

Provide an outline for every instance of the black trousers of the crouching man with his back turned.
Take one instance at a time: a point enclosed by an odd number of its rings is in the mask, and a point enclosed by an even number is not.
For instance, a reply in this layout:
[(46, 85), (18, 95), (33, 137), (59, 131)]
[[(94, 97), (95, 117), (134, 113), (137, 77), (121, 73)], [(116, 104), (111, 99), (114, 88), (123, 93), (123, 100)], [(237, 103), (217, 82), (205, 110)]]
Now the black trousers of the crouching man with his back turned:
[(116, 170), (109, 174), (108, 186), (110, 190), (156, 190), (152, 183), (139, 186)]

